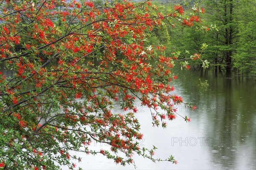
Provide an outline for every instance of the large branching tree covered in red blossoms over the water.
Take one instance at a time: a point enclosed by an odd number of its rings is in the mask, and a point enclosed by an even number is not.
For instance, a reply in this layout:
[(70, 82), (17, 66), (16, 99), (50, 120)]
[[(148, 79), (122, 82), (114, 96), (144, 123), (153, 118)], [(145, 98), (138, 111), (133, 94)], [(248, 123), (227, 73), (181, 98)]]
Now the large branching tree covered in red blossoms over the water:
[[(73, 169), (73, 159), (81, 158), (72, 150), (122, 165), (133, 164), (134, 153), (160, 161), (155, 148), (139, 146), (143, 135), (134, 101), (151, 109), (155, 126), (175, 119), (174, 106), (183, 100), (169, 82), (176, 78), (171, 69), (178, 53), (164, 56), (164, 46), (144, 46), (145, 32), (163, 20), (190, 26), (200, 10), (191, 9), (187, 18), (180, 5), (169, 14), (154, 14), (155, 8), (126, 0), (103, 6), (83, 0), (1, 2), (0, 169)], [(6, 76), (6, 70), (13, 74)], [(114, 101), (129, 112), (112, 113)], [(90, 150), (92, 141), (110, 150)], [(176, 163), (173, 156), (166, 161)]]

